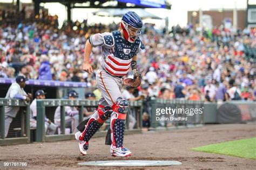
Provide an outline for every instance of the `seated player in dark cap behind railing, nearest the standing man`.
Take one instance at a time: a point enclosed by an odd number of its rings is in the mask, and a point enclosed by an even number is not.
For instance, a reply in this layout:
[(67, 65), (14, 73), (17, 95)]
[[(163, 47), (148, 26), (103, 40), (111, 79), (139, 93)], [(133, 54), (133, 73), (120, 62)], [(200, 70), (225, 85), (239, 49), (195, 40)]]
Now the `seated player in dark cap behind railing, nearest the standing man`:
[[(35, 99), (30, 104), (30, 127), (36, 128), (37, 125), (37, 99), (45, 99), (45, 92), (43, 90), (38, 90), (35, 93)], [(57, 130), (57, 126), (51, 122), (50, 119), (45, 117), (45, 123), (44, 123), (44, 130), (45, 134), (53, 135), (55, 134)]]

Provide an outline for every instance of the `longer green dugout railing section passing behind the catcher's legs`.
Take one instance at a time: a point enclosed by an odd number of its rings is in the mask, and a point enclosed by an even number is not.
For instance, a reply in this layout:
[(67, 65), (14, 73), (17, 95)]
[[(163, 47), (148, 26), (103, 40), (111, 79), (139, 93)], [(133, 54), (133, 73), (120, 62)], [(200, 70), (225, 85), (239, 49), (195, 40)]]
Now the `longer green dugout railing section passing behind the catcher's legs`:
[[(60, 106), (60, 134), (59, 135), (45, 135), (44, 131), (44, 118), (45, 107)], [(83, 121), (83, 108), (84, 107), (97, 107), (98, 101), (96, 100), (60, 100), (60, 99), (44, 99), (37, 100), (37, 129), (36, 129), (36, 141), (57, 141), (73, 139), (73, 134), (65, 134), (65, 106), (78, 106), (79, 107), (79, 122)], [(136, 130), (126, 130), (127, 133), (140, 133), (142, 128), (142, 101), (129, 101), (130, 108), (136, 108)], [(129, 118), (129, 117), (127, 117)], [(126, 122), (129, 122), (126, 121)], [(127, 125), (127, 124), (126, 124)], [(104, 135), (106, 132), (103, 132)], [(95, 134), (99, 135), (99, 133)]]

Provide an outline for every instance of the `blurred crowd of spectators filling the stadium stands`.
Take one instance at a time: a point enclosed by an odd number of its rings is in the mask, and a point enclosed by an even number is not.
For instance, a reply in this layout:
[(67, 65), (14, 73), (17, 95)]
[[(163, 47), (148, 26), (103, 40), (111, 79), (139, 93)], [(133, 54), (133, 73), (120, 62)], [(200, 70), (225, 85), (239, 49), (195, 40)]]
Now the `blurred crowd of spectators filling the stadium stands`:
[[(82, 71), (85, 42), (93, 33), (118, 29), (117, 24), (76, 21), (59, 29), (57, 16), (17, 22), (15, 14), (0, 13), (0, 77), (23, 75), (96, 86), (95, 74)], [(255, 100), (255, 34), (255, 29), (231, 32), (219, 26), (200, 35), (191, 25), (167, 32), (145, 24), (140, 36), (145, 50), (138, 55), (143, 83), (134, 97)], [(90, 62), (95, 70), (100, 57), (100, 47), (94, 48)]]

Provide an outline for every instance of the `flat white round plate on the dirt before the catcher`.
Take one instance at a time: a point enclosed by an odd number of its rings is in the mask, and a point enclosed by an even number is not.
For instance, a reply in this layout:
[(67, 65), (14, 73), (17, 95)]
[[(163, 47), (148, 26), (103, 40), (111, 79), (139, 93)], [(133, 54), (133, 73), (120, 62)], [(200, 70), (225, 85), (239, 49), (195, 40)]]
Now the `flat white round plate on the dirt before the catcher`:
[(158, 161), (158, 160), (115, 160), (115, 161), (90, 161), (81, 162), (78, 165), (85, 166), (109, 166), (109, 167), (133, 167), (133, 166), (172, 166), (181, 165), (179, 161)]

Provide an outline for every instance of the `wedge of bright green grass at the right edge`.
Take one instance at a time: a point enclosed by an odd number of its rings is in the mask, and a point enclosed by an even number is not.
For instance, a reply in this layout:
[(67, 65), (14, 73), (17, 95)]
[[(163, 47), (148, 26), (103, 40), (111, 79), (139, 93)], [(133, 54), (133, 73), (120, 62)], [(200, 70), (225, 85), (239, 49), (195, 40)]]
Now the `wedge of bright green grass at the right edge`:
[(196, 147), (192, 148), (192, 151), (219, 153), (240, 158), (256, 159), (256, 138)]

